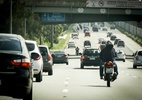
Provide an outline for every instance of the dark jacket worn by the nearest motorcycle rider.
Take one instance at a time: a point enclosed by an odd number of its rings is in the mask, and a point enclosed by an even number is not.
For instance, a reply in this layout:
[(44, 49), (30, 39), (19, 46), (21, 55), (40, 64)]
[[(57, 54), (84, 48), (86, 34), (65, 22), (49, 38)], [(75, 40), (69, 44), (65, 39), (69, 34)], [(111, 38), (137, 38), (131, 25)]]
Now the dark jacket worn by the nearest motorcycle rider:
[(100, 52), (100, 59), (103, 62), (107, 62), (107, 61), (114, 61), (114, 52), (113, 51), (113, 45), (109, 44), (107, 45), (101, 52)]

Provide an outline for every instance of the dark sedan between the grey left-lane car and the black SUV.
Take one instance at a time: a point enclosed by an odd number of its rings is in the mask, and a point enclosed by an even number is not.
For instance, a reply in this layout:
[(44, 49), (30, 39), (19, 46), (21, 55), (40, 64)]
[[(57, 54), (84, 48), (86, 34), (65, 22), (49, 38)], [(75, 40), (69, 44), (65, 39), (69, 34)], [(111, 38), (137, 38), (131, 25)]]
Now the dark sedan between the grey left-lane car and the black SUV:
[(69, 54), (67, 54), (64, 50), (53, 51), (52, 53), (53, 64), (65, 63), (66, 65), (68, 65), (69, 64), (68, 56)]

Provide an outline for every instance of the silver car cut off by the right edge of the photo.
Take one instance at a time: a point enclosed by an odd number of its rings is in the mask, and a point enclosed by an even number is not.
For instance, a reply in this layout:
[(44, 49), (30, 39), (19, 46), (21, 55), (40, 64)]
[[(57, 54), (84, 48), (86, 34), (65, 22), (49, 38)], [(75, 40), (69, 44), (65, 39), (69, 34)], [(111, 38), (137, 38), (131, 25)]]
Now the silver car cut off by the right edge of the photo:
[(137, 66), (142, 66), (142, 50), (137, 50), (133, 54), (133, 68), (137, 68)]

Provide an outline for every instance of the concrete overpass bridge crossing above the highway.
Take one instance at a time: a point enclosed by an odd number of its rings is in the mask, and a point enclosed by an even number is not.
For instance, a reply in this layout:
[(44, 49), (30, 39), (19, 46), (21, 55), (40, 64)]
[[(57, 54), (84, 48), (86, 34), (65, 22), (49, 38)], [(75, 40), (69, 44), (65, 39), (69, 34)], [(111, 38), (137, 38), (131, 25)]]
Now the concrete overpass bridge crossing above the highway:
[(141, 0), (33, 0), (26, 9), (38, 13), (43, 24), (142, 21)]

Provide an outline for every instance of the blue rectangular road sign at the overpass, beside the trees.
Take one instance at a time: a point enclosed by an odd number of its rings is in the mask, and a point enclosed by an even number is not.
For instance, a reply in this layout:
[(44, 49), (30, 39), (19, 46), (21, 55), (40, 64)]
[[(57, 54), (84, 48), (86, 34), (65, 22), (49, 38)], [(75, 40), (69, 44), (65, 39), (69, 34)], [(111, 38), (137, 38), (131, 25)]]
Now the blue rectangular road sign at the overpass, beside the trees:
[(63, 13), (43, 13), (42, 22), (64, 22), (65, 14)]

